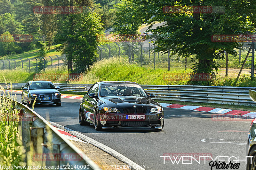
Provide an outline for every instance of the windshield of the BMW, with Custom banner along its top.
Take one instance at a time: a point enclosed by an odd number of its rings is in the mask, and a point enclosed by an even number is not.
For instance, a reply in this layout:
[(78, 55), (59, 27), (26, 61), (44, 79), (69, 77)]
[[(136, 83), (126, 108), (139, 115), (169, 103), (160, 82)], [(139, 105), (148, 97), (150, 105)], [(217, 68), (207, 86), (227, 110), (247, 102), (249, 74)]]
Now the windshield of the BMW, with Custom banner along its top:
[(147, 97), (147, 93), (140, 85), (134, 84), (105, 84), (101, 85), (100, 96), (140, 96)]

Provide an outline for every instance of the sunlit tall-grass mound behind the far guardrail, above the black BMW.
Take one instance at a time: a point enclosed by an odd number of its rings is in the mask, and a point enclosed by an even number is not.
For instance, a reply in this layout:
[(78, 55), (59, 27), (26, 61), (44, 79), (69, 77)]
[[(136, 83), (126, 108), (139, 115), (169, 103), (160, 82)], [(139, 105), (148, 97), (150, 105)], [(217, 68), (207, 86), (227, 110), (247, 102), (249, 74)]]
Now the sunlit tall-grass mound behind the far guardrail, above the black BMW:
[(140, 67), (136, 63), (118, 57), (103, 59), (94, 63), (91, 68), (83, 74), (79, 81), (70, 83), (95, 83), (97, 81), (133, 81), (139, 84), (165, 85), (165, 84), (187, 84), (187, 81), (166, 81), (164, 74), (189, 73), (191, 70), (173, 69), (171, 71), (147, 67)]

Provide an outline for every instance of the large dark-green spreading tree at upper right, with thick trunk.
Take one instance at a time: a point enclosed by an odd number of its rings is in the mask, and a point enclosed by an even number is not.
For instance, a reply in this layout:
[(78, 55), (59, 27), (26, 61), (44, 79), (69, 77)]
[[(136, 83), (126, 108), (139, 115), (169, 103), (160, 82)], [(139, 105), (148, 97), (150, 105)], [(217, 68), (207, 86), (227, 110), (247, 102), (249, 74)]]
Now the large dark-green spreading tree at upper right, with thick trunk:
[[(164, 23), (152, 30), (157, 48), (155, 52), (170, 52), (178, 57), (198, 59), (194, 73), (214, 73), (215, 59), (224, 59), (224, 52), (237, 55), (236, 42), (212, 42), (214, 34), (239, 34), (255, 31), (255, 2), (252, 0), (133, 0), (142, 4), (141, 14), (148, 23)], [(164, 13), (164, 6), (223, 6), (225, 13)], [(221, 54), (221, 55), (220, 55)], [(194, 60), (195, 61), (195, 60)]]

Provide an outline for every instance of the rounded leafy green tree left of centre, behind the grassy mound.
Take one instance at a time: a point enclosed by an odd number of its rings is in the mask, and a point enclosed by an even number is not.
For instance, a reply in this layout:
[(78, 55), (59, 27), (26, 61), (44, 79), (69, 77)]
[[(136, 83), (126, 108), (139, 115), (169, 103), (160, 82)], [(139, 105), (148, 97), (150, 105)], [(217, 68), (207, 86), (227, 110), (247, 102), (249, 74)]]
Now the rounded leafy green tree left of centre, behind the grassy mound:
[[(84, 72), (97, 55), (97, 34), (102, 33), (99, 14), (87, 11), (80, 14), (70, 14), (63, 21), (58, 41), (62, 42), (60, 50), (67, 55), (69, 72)], [(71, 63), (71, 64), (72, 64)]]

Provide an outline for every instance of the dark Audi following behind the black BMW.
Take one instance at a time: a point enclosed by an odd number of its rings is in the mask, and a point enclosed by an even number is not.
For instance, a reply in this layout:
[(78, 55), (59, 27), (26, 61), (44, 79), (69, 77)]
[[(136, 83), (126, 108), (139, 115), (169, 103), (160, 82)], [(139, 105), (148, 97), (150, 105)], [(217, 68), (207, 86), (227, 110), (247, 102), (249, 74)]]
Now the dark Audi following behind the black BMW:
[(21, 103), (26, 103), (31, 107), (39, 104), (56, 104), (61, 106), (61, 94), (57, 90), (59, 86), (55, 87), (50, 81), (30, 81), (22, 90)]

